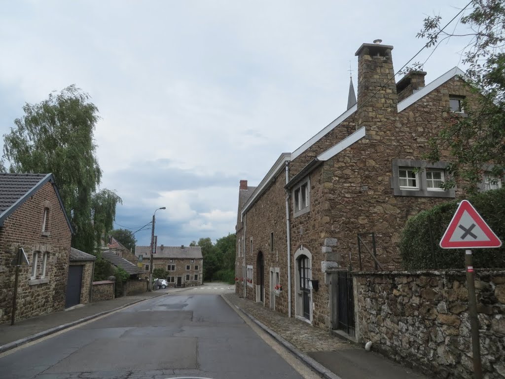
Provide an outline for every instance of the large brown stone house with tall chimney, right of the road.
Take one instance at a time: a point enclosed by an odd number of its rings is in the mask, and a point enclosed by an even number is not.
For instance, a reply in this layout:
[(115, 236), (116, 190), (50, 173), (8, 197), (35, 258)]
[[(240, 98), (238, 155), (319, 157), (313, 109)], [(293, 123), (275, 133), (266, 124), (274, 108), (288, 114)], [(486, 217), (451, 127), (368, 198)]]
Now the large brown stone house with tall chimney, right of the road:
[[(358, 233), (383, 270), (398, 269), (400, 231), (411, 215), (461, 194), (444, 191), (448, 152), (422, 160), (428, 139), (475, 93), (457, 67), (425, 85), (425, 72), (395, 82), (393, 46), (364, 43), (358, 93), (347, 110), (292, 153), (257, 187), (240, 181), (237, 294), (320, 327), (335, 327), (331, 273), (360, 268)], [(417, 170), (422, 168), (422, 170)], [(486, 178), (483, 177), (483, 183)], [(495, 184), (501, 186), (501, 182)], [(361, 268), (375, 269), (363, 247)]]

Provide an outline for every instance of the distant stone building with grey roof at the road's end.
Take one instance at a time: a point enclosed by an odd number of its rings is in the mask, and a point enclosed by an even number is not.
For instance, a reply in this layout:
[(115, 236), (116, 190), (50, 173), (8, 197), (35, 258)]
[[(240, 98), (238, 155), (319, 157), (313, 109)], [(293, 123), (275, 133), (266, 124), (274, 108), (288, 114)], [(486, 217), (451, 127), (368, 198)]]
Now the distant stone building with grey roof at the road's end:
[[(135, 247), (146, 278), (149, 277), (149, 251), (150, 246)], [(199, 246), (158, 246), (153, 255), (153, 269), (157, 268), (168, 271), (169, 287), (193, 287), (203, 283), (204, 257)]]

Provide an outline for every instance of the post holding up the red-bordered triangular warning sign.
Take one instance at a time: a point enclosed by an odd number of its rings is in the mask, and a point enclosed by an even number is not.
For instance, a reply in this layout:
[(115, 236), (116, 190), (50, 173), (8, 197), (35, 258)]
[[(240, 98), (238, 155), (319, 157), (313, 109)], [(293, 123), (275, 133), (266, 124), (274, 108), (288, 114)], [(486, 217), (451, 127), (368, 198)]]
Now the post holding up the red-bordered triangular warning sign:
[(465, 266), (467, 268), (468, 306), (472, 335), (472, 353), (474, 360), (474, 378), (482, 379), (482, 362), (480, 359), (479, 320), (477, 318), (477, 302), (475, 300), (474, 270), (472, 250), (465, 250)]

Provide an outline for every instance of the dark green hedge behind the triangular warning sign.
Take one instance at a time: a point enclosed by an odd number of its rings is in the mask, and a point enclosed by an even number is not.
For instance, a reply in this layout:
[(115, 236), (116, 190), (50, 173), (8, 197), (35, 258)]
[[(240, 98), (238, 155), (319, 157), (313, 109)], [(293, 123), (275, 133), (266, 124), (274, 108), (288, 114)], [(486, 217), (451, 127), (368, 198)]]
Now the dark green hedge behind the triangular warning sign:
[[(470, 196), (468, 201), (484, 218), (498, 238), (505, 238), (505, 188)], [(443, 203), (410, 218), (403, 228), (400, 254), (403, 268), (463, 269), (464, 249), (442, 249), (439, 242), (458, 208), (458, 201)], [(475, 268), (504, 268), (505, 247), (473, 249)]]

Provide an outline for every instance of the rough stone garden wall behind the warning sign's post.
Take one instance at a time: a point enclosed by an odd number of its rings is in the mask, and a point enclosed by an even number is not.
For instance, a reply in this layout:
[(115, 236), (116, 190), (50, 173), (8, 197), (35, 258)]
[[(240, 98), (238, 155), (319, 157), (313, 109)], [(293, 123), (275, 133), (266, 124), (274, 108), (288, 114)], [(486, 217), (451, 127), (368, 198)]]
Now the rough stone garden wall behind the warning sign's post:
[[(484, 377), (505, 378), (505, 271), (475, 279)], [(464, 271), (355, 273), (357, 337), (441, 378), (472, 378)]]

